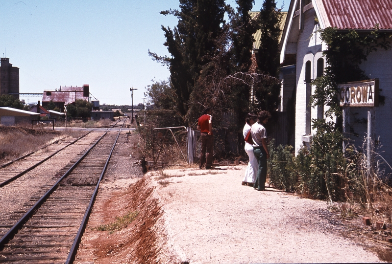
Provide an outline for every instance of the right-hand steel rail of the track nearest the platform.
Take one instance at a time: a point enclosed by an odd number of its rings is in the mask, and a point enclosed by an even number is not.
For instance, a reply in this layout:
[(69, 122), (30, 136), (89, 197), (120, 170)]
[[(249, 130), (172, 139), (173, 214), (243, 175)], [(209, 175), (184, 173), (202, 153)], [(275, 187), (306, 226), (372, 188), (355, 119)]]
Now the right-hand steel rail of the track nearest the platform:
[(117, 134), (117, 137), (116, 137), (116, 140), (114, 141), (112, 150), (110, 151), (109, 157), (108, 157), (107, 160), (106, 160), (106, 163), (105, 163), (105, 166), (103, 167), (102, 173), (101, 173), (101, 175), (99, 176), (99, 180), (98, 180), (97, 186), (96, 186), (96, 188), (95, 188), (95, 190), (94, 190), (93, 196), (92, 196), (91, 199), (90, 199), (89, 206), (88, 206), (88, 208), (87, 208), (87, 210), (86, 210), (86, 213), (85, 213), (85, 215), (84, 215), (84, 217), (83, 217), (82, 223), (80, 224), (79, 230), (78, 230), (78, 232), (77, 232), (77, 234), (76, 234), (76, 238), (75, 238), (74, 241), (73, 241), (73, 245), (72, 245), (72, 247), (71, 247), (70, 253), (68, 254), (67, 261), (65, 262), (66, 264), (71, 264), (71, 263), (73, 263), (73, 261), (74, 261), (74, 259), (75, 259), (75, 256), (76, 256), (76, 253), (77, 253), (77, 249), (78, 249), (78, 247), (79, 247), (79, 243), (80, 243), (80, 241), (81, 241), (81, 239), (82, 239), (84, 230), (85, 230), (85, 228), (86, 228), (86, 226), (87, 226), (87, 221), (88, 221), (89, 218), (90, 218), (90, 214), (91, 214), (91, 211), (92, 211), (92, 209), (93, 209), (93, 205), (94, 205), (95, 199), (97, 198), (98, 189), (99, 189), (99, 184), (100, 184), (101, 180), (103, 179), (103, 175), (104, 175), (105, 172), (106, 172), (106, 169), (107, 169), (107, 166), (108, 166), (108, 164), (109, 164), (110, 158), (111, 158), (111, 156), (112, 156), (112, 154), (113, 154), (113, 151), (114, 151), (114, 147), (116, 146), (117, 140), (119, 139), (119, 136), (120, 136), (120, 133), (121, 133), (121, 129), (123, 128), (124, 124), (125, 124), (125, 122), (123, 123), (123, 125), (121, 126), (121, 128), (120, 128), (120, 130), (119, 130), (119, 133)]

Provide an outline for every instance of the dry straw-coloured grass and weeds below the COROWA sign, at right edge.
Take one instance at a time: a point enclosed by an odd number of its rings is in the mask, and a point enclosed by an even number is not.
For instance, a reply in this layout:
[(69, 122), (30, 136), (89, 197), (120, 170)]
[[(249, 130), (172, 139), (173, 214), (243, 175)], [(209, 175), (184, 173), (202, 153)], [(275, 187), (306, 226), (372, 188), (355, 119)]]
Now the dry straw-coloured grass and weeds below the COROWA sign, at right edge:
[[(364, 143), (365, 144), (365, 143)], [(365, 149), (363, 147), (363, 149)], [(355, 175), (350, 179), (346, 175), (344, 190), (345, 201), (335, 206), (335, 211), (341, 218), (352, 222), (354, 239), (372, 242), (370, 248), (378, 257), (387, 262), (392, 262), (392, 187), (389, 175), (382, 169), (383, 165), (390, 165), (376, 152), (372, 153), (374, 163), (371, 172), (367, 169), (366, 152), (357, 152)], [(391, 167), (390, 167), (391, 168)], [(391, 168), (392, 169), (392, 168)], [(348, 188), (348, 187), (350, 188)], [(363, 223), (362, 217), (370, 219), (370, 225)], [(377, 222), (385, 225), (385, 229), (378, 230)]]

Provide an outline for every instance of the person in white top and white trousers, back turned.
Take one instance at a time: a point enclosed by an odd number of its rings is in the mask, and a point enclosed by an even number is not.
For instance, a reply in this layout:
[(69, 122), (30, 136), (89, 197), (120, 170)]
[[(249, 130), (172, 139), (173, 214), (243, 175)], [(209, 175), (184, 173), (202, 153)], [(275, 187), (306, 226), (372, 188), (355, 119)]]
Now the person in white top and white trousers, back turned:
[[(246, 121), (246, 123), (245, 123), (245, 127), (243, 130), (244, 139), (246, 137), (246, 134), (250, 131), (251, 126), (254, 123), (256, 123), (257, 115), (255, 115), (253, 112), (250, 112), (247, 114), (245, 121)], [(247, 186), (253, 186), (253, 184), (256, 180), (258, 163), (257, 163), (257, 159), (253, 153), (252, 144), (249, 144), (246, 141), (245, 141), (245, 152), (249, 156), (249, 163), (248, 163), (248, 166), (246, 167), (245, 177), (244, 177), (244, 180), (242, 181), (241, 184), (247, 185)]]

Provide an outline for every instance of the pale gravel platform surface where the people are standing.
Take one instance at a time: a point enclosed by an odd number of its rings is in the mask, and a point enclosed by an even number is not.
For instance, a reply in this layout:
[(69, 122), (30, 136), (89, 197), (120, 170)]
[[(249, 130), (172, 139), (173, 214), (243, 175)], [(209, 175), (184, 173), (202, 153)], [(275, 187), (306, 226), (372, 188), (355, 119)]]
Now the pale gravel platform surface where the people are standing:
[[(368, 263), (378, 257), (340, 235), (327, 204), (242, 186), (245, 166), (165, 171), (152, 181), (168, 250), (189, 263)], [(174, 177), (168, 177), (174, 176)]]

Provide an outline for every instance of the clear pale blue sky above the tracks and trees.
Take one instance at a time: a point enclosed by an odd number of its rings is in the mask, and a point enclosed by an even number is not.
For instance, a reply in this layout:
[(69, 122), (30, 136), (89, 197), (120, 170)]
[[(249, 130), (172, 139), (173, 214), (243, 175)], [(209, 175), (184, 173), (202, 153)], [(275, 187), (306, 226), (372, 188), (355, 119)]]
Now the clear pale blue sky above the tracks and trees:
[[(256, 0), (253, 11), (262, 3)], [(147, 52), (169, 55), (161, 25), (173, 28), (177, 20), (159, 12), (178, 6), (178, 0), (1, 0), (0, 56), (20, 68), (20, 92), (89, 84), (101, 104), (130, 105), (133, 87), (136, 105), (151, 80), (170, 75)]]

